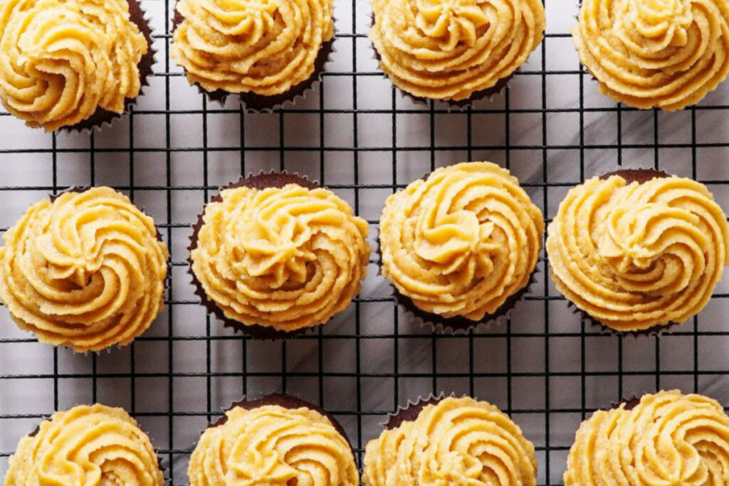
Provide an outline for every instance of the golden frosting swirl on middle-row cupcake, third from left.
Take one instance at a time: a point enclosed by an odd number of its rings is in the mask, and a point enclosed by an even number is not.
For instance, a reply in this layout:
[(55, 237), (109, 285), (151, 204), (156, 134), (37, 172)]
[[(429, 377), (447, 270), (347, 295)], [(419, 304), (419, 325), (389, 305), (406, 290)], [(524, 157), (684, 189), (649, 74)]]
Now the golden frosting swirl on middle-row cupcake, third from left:
[(529, 283), (544, 227), (506, 169), (439, 168), (387, 198), (382, 273), (421, 310), (477, 321)]

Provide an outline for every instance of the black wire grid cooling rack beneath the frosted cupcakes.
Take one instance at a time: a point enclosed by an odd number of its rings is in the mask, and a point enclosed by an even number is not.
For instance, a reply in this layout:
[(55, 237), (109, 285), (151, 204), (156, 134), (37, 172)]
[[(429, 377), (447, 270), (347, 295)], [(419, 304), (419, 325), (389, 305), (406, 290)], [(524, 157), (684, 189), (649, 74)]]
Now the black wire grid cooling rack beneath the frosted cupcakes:
[(681, 388), (729, 404), (729, 279), (698, 318), (663, 337), (583, 326), (544, 259), (510, 321), (465, 335), (408, 324), (375, 259), (348, 310), (295, 340), (248, 340), (198, 305), (187, 275), (190, 225), (241, 173), (287, 169), (318, 179), (368, 219), (373, 246), (387, 195), (464, 160), (510, 168), (547, 219), (569, 187), (617, 165), (693, 177), (729, 209), (729, 83), (678, 113), (616, 106), (577, 62), (569, 39), (577, 2), (545, 6), (545, 42), (502, 95), (467, 111), (413, 103), (391, 87), (367, 39), (369, 4), (359, 0), (335, 1), (336, 52), (307, 98), (268, 114), (208, 103), (167, 55), (171, 1), (147, 0), (156, 74), (130, 115), (100, 133), (52, 136), (0, 114), (3, 230), (49, 192), (108, 184), (152, 214), (171, 248), (165, 310), (128, 348), (98, 356), (55, 350), (0, 309), (0, 477), (17, 440), (42, 417), (93, 401), (139, 420), (174, 485), (187, 484), (200, 431), (245, 394), (287, 391), (321, 404), (361, 459), (398, 404), (469, 393), (510, 413), (534, 442), (540, 485), (561, 484), (580, 420), (621, 396)]

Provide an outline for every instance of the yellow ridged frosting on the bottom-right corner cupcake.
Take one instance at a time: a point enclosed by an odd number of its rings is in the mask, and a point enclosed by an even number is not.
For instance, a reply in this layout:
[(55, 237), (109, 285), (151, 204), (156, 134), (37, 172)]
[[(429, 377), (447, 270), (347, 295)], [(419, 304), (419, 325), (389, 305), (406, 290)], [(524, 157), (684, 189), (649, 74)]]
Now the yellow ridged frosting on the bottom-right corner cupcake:
[(565, 486), (729, 484), (729, 418), (715, 400), (660, 391), (582, 422)]

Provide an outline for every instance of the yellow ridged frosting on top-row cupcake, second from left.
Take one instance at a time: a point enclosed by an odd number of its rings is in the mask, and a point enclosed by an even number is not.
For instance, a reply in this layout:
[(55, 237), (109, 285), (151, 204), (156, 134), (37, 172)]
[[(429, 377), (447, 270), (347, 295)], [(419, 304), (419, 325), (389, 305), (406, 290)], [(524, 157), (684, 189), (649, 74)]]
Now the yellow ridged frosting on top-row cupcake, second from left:
[(179, 0), (171, 57), (208, 92), (273, 96), (311, 78), (332, 0)]

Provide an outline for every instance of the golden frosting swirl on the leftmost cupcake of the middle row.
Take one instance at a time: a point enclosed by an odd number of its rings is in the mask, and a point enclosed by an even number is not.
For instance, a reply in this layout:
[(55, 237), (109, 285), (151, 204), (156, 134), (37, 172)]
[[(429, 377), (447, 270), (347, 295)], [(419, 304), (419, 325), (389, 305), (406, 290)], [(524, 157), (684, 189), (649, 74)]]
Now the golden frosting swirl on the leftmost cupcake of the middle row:
[(125, 345), (162, 308), (167, 247), (152, 218), (114, 189), (42, 200), (3, 240), (0, 298), (39, 341), (77, 352)]

